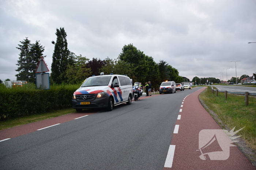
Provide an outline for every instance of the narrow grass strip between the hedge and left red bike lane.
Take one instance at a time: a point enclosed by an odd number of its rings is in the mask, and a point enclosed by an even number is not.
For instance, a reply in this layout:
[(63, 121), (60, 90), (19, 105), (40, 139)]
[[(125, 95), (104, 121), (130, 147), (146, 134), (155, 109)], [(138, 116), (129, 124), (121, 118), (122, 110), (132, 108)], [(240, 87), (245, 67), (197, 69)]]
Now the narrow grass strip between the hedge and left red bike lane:
[(11, 118), (8, 120), (3, 120), (0, 122), (0, 130), (62, 116), (72, 112), (76, 112), (76, 110), (74, 108), (67, 108), (67, 109), (62, 109), (62, 110), (53, 111), (53, 112), (44, 113), (44, 114), (37, 114), (37, 115), (25, 116), (22, 118)]

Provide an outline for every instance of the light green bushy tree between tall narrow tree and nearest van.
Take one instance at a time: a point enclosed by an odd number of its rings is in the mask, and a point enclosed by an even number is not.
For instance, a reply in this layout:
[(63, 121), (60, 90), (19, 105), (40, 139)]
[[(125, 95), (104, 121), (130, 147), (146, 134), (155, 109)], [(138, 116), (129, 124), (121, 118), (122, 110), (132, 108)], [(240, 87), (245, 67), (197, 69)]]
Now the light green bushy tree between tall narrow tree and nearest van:
[(80, 83), (85, 80), (87, 77), (91, 75), (91, 68), (86, 67), (86, 62), (89, 60), (86, 57), (75, 56), (74, 57), (74, 64), (68, 64), (67, 70), (64, 72), (63, 76), (66, 79), (67, 83)]

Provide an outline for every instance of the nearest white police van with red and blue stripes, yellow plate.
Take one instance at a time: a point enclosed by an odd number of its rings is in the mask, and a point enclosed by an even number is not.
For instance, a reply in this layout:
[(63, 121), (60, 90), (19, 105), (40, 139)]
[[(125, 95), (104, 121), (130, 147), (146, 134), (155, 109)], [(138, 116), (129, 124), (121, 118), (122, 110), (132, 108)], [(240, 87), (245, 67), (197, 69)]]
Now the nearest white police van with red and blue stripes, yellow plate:
[(84, 108), (107, 108), (112, 111), (119, 104), (132, 103), (132, 81), (126, 75), (92, 76), (84, 80), (73, 94), (72, 107), (77, 112)]

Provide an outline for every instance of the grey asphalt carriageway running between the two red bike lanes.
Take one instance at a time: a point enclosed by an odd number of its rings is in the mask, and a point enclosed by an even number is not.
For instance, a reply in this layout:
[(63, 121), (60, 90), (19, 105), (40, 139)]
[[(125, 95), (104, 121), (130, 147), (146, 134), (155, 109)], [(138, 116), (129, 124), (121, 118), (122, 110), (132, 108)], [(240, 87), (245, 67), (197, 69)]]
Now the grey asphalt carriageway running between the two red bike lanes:
[(1, 170), (163, 169), (182, 100), (200, 88), (144, 97), (0, 142)]

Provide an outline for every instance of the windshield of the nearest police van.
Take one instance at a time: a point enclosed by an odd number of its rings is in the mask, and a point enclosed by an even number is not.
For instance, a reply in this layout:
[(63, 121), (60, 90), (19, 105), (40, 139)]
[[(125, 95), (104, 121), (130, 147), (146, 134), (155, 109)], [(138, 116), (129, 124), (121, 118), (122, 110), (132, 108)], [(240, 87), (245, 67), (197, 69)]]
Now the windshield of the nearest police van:
[(86, 79), (81, 87), (108, 86), (112, 76), (93, 76)]

